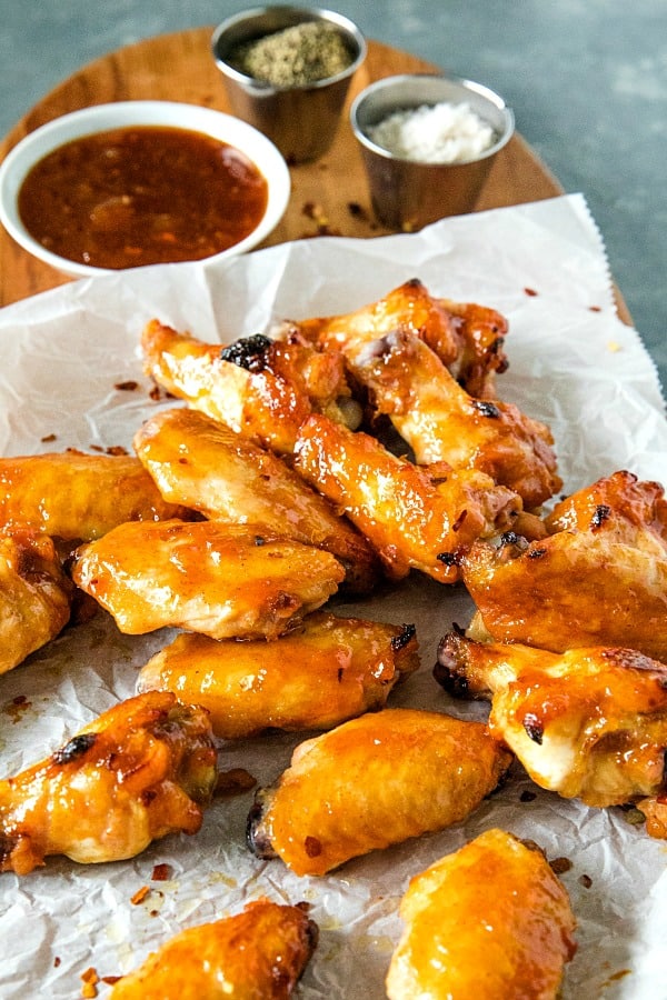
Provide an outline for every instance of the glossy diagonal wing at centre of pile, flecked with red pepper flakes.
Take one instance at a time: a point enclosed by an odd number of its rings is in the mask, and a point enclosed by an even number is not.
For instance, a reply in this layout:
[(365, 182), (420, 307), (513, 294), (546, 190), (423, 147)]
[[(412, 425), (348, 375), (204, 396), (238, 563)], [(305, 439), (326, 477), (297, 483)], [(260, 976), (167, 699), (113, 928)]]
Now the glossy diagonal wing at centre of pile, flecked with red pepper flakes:
[(511, 527), (521, 512), (520, 498), (484, 472), (415, 466), (370, 434), (321, 416), (301, 427), (295, 468), (345, 511), (394, 579), (414, 568), (456, 582), (462, 552)]

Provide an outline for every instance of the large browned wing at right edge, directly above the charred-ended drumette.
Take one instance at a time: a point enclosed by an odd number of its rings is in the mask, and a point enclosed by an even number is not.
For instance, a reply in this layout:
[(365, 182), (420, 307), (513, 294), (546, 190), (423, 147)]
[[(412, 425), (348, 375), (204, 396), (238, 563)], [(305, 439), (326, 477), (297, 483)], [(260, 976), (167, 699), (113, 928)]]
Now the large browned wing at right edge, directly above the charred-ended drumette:
[(478, 541), (461, 574), (469, 631), (554, 652), (619, 646), (667, 660), (667, 514), (663, 488), (616, 472), (557, 504), (551, 534)]

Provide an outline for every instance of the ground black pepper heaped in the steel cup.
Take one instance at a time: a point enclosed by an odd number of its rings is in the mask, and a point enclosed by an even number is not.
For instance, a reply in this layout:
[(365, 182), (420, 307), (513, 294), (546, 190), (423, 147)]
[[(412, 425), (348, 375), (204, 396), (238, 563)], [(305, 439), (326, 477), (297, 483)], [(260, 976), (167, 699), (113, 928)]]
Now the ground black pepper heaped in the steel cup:
[(239, 46), (229, 62), (273, 87), (303, 87), (344, 72), (352, 56), (332, 24), (303, 21)]

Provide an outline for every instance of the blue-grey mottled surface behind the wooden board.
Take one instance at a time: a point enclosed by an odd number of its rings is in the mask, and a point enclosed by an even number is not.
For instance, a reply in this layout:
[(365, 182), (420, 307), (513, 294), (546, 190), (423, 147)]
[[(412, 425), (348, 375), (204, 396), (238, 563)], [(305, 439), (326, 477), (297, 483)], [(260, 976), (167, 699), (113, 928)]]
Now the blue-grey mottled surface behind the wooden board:
[[(1, 0), (0, 133), (80, 66), (252, 2)], [(337, 0), (370, 38), (498, 90), (568, 192), (581, 191), (667, 387), (667, 2)]]

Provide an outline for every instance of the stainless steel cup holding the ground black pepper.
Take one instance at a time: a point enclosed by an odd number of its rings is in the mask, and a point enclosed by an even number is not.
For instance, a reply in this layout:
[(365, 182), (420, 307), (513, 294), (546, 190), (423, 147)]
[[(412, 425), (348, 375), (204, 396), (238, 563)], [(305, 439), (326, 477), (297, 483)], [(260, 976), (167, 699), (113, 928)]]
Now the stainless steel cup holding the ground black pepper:
[[(349, 67), (306, 87), (278, 88), (239, 72), (229, 63), (239, 44), (263, 38), (305, 21), (327, 21), (349, 49)], [(357, 26), (334, 11), (300, 7), (258, 7), (235, 14), (218, 26), (211, 40), (238, 118), (258, 128), (278, 147), (288, 163), (316, 160), (334, 141), (352, 76), (364, 62), (367, 44)]]

